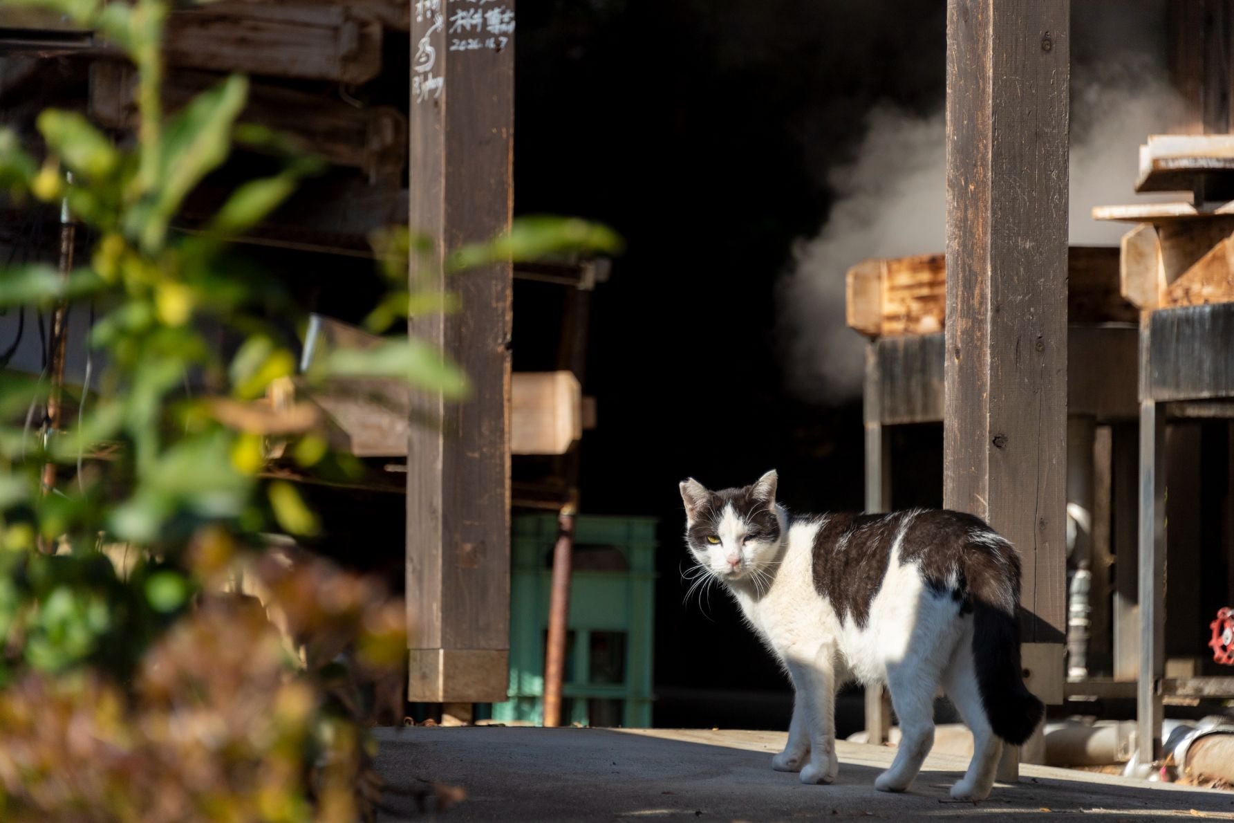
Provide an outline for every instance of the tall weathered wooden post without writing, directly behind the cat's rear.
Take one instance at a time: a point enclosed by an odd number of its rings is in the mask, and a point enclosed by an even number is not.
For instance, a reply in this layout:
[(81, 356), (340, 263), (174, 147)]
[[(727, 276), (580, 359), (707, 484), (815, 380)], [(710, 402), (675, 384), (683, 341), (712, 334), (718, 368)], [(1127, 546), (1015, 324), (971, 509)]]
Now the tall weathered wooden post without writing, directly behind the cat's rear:
[[(1066, 582), (1070, 2), (948, 0), (946, 37), (943, 502), (985, 517), (1019, 550), (1024, 665), (1030, 687), (1056, 703)], [(1013, 764), (1004, 760), (1003, 779), (1014, 776)]]

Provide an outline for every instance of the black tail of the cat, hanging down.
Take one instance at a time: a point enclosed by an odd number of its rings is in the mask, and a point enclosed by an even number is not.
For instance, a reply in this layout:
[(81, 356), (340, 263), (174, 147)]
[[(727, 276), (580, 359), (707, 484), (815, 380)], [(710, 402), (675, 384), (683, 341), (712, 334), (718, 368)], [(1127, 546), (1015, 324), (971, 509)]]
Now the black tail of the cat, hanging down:
[(1004, 539), (983, 536), (967, 553), (965, 576), (972, 597), (972, 659), (981, 707), (993, 733), (1023, 745), (1045, 716), (1045, 705), (1024, 685), (1019, 659), (1019, 558)]

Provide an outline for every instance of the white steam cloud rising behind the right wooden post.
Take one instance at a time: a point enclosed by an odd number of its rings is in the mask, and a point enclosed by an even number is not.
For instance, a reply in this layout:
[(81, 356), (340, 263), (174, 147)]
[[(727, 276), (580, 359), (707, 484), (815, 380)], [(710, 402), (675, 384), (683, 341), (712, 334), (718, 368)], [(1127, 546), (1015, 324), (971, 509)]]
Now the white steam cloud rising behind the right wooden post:
[[(1180, 121), (1182, 101), (1160, 67), (1125, 64), (1077, 80), (1072, 96), (1070, 242), (1117, 246), (1122, 223), (1099, 223), (1092, 207), (1144, 200), (1135, 195), (1138, 147)], [(835, 194), (818, 236), (798, 241), (780, 283), (785, 376), (807, 401), (860, 395), (864, 338), (844, 323), (844, 273), (870, 257), (903, 257), (945, 248), (945, 133), (939, 111), (921, 117), (877, 107), (855, 159), (834, 168)], [(1170, 199), (1166, 195), (1166, 199)], [(1176, 199), (1176, 197), (1174, 197)]]

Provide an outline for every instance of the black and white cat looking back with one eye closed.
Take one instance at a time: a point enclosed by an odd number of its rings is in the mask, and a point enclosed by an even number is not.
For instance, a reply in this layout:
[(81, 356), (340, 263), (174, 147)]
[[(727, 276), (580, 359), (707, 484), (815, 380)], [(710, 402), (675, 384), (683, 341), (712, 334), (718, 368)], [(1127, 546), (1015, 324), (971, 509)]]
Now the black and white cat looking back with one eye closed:
[(835, 779), (835, 689), (855, 677), (891, 692), (902, 738), (874, 785), (905, 791), (934, 744), (942, 690), (974, 738), (951, 797), (985, 798), (1003, 742), (1023, 744), (1045, 711), (1021, 671), (1016, 550), (971, 515), (790, 516), (775, 495), (775, 471), (744, 489), (681, 484), (690, 552), (796, 690), (771, 766), (803, 784)]

